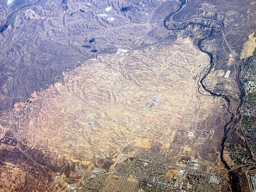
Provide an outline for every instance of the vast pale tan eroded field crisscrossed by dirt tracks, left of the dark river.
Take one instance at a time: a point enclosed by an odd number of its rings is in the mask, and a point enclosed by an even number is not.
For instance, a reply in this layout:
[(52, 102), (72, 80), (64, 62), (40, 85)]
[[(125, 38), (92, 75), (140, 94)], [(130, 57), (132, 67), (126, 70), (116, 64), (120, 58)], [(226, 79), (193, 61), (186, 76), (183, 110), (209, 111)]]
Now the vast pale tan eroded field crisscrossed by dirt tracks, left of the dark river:
[[(208, 62), (205, 53), (182, 38), (88, 60), (63, 73), (60, 83), (15, 105), (20, 148), (45, 168), (49, 188), (56, 175), (76, 178), (78, 164), (85, 175), (96, 167), (111, 171), (123, 157), (145, 149), (184, 167), (201, 129), (195, 125), (220, 104), (196, 91), (195, 77)], [(64, 181), (57, 186), (65, 186)]]

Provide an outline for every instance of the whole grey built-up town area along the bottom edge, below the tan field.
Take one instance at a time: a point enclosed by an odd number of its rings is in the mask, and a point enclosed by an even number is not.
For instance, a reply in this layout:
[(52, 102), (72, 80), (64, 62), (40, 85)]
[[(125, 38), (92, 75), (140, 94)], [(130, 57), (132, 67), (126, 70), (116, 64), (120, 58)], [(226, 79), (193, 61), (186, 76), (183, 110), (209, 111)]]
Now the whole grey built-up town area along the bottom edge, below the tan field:
[[(199, 172), (196, 171), (199, 163), (197, 159), (190, 159), (190, 168), (176, 170), (173, 174), (170, 174), (169, 171), (175, 169), (165, 164), (165, 159), (166, 155), (140, 151), (136, 157), (130, 157), (116, 164), (115, 172), (107, 172), (99, 168), (94, 168), (91, 171), (91, 175), (84, 178), (79, 186), (77, 183), (69, 183), (65, 191), (199, 192), (201, 190), (198, 179)], [(81, 172), (81, 170), (80, 165), (76, 166), (77, 172)], [(167, 174), (168, 172), (169, 174)], [(200, 177), (204, 191), (219, 191), (220, 180), (217, 176), (204, 173)]]

